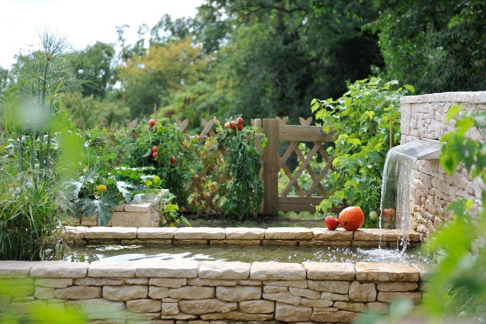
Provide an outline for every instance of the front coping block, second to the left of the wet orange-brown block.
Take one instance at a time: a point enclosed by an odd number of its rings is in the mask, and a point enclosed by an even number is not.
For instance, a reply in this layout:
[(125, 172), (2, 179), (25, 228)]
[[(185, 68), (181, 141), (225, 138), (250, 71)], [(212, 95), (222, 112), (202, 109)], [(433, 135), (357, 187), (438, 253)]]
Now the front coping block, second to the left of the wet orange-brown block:
[(296, 263), (281, 262), (253, 262), (250, 269), (251, 279), (260, 280), (304, 280), (306, 277), (305, 269)]

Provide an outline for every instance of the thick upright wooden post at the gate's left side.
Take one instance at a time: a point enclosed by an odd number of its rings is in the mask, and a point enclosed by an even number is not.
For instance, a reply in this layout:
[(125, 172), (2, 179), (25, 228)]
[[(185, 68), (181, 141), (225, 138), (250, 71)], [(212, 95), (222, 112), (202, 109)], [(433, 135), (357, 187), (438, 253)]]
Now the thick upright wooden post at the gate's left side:
[(263, 132), (263, 214), (278, 215), (278, 120), (264, 119)]

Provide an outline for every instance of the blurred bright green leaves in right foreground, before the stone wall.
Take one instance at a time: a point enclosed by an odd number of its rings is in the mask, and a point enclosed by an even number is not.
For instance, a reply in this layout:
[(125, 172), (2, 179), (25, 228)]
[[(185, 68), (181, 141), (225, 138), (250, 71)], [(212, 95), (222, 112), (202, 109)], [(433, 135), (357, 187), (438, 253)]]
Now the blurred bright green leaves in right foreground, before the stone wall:
[[(448, 121), (459, 113), (453, 106)], [(486, 142), (465, 137), (475, 128), (482, 138), (486, 135), (486, 113), (469, 112), (456, 121), (454, 132), (444, 135), (440, 164), (449, 175), (464, 165), (473, 178), (486, 180)], [(430, 315), (457, 315), (466, 320), (484, 322), (486, 316), (486, 190), (483, 189), (481, 206), (469, 199), (459, 198), (447, 211), (454, 220), (437, 230), (427, 249), (437, 253), (439, 264), (430, 280), (424, 304)], [(474, 207), (474, 208), (473, 208)], [(480, 207), (478, 209), (478, 207)]]

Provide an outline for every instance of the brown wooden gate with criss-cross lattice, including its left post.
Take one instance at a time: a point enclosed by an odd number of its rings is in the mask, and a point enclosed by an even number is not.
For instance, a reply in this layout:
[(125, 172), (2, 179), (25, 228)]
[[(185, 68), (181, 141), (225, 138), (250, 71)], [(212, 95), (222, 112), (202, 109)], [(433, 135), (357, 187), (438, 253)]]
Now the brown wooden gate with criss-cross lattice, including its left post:
[[(263, 214), (276, 215), (279, 211), (315, 212), (315, 206), (329, 196), (321, 181), (332, 169), (333, 158), (327, 155), (323, 147), (323, 143), (332, 142), (332, 134), (324, 134), (320, 126), (310, 126), (311, 121), (312, 118), (307, 120), (300, 118), (301, 125), (285, 125), (285, 119), (263, 119), (263, 132), (267, 137), (267, 145), (263, 152)], [(280, 155), (278, 146), (282, 141), (288, 142), (289, 145), (283, 155)], [(310, 145), (312, 148), (307, 156), (299, 149), (300, 142), (313, 143)], [(287, 165), (293, 152), (300, 162), (294, 172)], [(320, 171), (315, 172), (316, 170), (311, 167), (310, 162), (318, 152), (323, 158), (322, 164), (324, 165)], [(281, 170), (289, 178), (289, 183), (279, 193), (278, 175)], [(298, 179), (304, 171), (307, 171), (312, 179), (312, 185), (306, 190), (302, 189), (298, 183)], [(289, 194), (292, 189), (295, 189), (297, 195)], [(321, 195), (314, 195), (316, 191)]]

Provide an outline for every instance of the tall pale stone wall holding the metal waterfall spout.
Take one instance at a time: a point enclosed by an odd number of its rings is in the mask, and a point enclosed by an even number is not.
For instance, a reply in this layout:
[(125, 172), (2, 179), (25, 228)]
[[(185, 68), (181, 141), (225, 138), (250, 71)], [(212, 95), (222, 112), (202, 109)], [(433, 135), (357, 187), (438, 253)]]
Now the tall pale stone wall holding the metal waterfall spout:
[[(400, 99), (402, 104), (401, 144), (419, 137), (440, 139), (454, 130), (454, 118), (446, 123), (449, 107), (459, 104), (462, 111), (486, 110), (486, 91), (481, 92), (446, 92), (420, 96), (406, 96)], [(484, 140), (476, 129), (471, 129), (466, 136)], [(445, 210), (456, 198), (464, 197), (480, 205), (481, 191), (485, 188), (479, 179), (471, 180), (466, 170), (459, 166), (453, 176), (448, 176), (439, 166), (438, 160), (417, 161), (412, 186), (410, 187), (410, 213), (412, 229), (427, 238), (432, 231), (452, 217)]]

